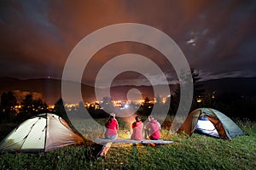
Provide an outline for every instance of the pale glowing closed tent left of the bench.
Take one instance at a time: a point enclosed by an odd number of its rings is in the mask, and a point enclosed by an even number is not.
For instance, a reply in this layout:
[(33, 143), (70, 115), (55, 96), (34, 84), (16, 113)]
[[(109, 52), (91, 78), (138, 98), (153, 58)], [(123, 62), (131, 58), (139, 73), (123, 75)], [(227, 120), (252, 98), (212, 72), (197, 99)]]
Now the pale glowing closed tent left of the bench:
[(84, 139), (74, 133), (60, 116), (44, 113), (15, 127), (1, 142), (0, 150), (2, 152), (46, 152), (83, 141)]

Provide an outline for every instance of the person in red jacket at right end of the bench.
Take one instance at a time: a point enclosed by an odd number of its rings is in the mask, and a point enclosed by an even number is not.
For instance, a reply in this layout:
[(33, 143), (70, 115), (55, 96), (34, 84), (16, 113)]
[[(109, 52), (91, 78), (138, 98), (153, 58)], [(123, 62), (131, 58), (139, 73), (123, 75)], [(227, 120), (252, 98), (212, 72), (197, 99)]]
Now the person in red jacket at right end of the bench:
[(148, 121), (145, 127), (145, 139), (147, 136), (152, 140), (160, 139), (160, 123), (154, 119), (154, 116), (148, 116)]

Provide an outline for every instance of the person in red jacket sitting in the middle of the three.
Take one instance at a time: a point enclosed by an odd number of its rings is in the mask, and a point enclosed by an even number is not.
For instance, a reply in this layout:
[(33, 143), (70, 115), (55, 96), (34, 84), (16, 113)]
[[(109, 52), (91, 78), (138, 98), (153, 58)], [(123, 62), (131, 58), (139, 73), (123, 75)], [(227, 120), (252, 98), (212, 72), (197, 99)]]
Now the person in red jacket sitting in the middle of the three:
[(139, 116), (135, 117), (136, 122), (131, 124), (131, 139), (142, 140), (143, 139), (143, 122)]

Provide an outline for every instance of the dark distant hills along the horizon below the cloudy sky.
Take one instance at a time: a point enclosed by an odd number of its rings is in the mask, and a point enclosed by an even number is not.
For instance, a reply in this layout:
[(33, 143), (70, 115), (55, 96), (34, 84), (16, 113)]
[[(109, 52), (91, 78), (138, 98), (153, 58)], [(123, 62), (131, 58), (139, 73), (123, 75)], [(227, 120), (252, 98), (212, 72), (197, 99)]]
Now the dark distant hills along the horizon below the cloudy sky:
[[(244, 96), (256, 96), (256, 78), (224, 78), (200, 82), (207, 92), (215, 91), (217, 94), (236, 94)], [(174, 92), (177, 85), (170, 85), (171, 93)], [(154, 91), (149, 86), (118, 86), (111, 88), (111, 97), (113, 99), (126, 99), (126, 94), (131, 88), (137, 88), (143, 95), (143, 98), (154, 98)], [(160, 86), (158, 86), (160, 88)], [(95, 88), (81, 84), (84, 101), (95, 101)], [(55, 79), (28, 79), (20, 80), (15, 78), (0, 78), (0, 94), (3, 92), (20, 90), (22, 92), (36, 92), (42, 94), (42, 98), (48, 104), (54, 104), (61, 97), (61, 80)], [(100, 93), (105, 93), (104, 89), (96, 89)], [(166, 96), (162, 92), (157, 94)]]

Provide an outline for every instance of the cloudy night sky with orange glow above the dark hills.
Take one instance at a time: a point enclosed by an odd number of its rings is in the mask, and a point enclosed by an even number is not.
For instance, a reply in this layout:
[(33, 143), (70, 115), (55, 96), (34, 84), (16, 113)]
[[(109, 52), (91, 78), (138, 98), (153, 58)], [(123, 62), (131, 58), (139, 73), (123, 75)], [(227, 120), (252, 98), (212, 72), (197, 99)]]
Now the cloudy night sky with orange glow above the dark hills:
[[(56, 78), (76, 44), (91, 32), (119, 23), (140, 23), (164, 31), (177, 43), (202, 80), (256, 77), (256, 1), (1, 1), (0, 77)], [(119, 42), (90, 60), (83, 82), (119, 54), (153, 59), (169, 82), (172, 65), (154, 48)], [(119, 63), (127, 65), (127, 63)], [(143, 65), (141, 63), (140, 65)], [(157, 75), (149, 75), (161, 82)], [(125, 72), (116, 84), (145, 84), (145, 77)]]

